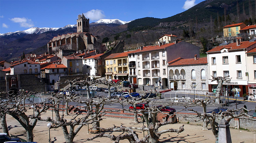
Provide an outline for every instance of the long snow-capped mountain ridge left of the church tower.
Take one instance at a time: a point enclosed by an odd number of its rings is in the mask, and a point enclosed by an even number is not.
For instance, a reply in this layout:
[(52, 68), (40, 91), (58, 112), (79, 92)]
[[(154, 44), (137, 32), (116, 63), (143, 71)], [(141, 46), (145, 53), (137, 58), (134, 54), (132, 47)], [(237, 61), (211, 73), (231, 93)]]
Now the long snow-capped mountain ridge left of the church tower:
[(11, 35), (11, 34), (15, 34), (15, 35), (41, 34), (41, 33), (47, 32), (47, 31), (56, 31), (58, 29), (73, 28), (73, 27), (76, 27), (76, 25), (66, 25), (66, 26), (60, 27), (60, 28), (32, 27), (32, 28), (29, 28), (29, 29), (24, 30), (24, 31), (16, 31), (16, 32), (8, 32), (8, 33), (5, 33), (5, 34), (0, 34), (0, 37), (8, 36), (8, 35)]

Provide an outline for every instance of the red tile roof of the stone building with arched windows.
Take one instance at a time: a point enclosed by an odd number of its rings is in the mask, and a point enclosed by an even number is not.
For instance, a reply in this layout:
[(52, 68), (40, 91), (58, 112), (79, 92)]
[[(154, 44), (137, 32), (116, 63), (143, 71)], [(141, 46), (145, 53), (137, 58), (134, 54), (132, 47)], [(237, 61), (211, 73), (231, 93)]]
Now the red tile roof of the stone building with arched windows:
[(177, 61), (174, 61), (173, 63), (169, 64), (168, 66), (177, 66), (177, 65), (194, 65), (194, 64), (207, 64), (207, 57), (200, 57), (197, 58), (196, 60), (193, 59), (182, 59), (178, 58), (176, 59)]

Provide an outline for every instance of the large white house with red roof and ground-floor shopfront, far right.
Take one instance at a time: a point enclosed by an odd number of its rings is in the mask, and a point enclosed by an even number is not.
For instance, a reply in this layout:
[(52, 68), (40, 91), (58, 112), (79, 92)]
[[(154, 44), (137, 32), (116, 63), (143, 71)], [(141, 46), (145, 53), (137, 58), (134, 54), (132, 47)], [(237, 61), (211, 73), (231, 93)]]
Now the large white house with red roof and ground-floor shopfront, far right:
[[(239, 95), (236, 93), (236, 96), (242, 96), (243, 94), (248, 95), (246, 53), (256, 48), (256, 41), (250, 40), (241, 42), (240, 40), (241, 38), (236, 38), (236, 43), (221, 44), (207, 51), (209, 78), (211, 79), (211, 76), (230, 76), (230, 83), (223, 83), (223, 91), (226, 95), (225, 89), (233, 88), (235, 88), (236, 91), (238, 91), (238, 88), (241, 89)], [(253, 76), (253, 74), (250, 76)], [(209, 92), (215, 91), (217, 85), (217, 81), (209, 80)]]

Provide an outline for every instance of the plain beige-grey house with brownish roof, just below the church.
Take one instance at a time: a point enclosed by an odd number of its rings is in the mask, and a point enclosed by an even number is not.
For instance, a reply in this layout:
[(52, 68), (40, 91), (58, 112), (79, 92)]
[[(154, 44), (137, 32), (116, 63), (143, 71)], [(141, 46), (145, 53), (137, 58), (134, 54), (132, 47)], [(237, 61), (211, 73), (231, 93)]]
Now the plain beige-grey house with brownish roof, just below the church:
[(68, 68), (68, 75), (83, 74), (83, 59), (76, 55), (64, 56), (61, 63)]

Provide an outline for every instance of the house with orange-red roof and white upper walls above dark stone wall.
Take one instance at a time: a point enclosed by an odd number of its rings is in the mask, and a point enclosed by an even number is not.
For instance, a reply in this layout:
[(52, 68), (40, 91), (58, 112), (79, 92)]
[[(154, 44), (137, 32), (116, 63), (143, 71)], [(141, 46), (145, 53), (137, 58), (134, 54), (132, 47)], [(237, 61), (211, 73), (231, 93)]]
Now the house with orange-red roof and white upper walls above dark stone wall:
[(52, 91), (55, 89), (54, 84), (59, 81), (60, 76), (68, 75), (68, 69), (64, 64), (50, 64), (41, 68), (40, 74), (47, 84), (47, 91)]

